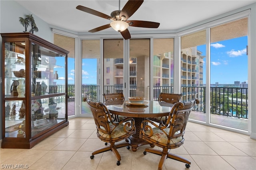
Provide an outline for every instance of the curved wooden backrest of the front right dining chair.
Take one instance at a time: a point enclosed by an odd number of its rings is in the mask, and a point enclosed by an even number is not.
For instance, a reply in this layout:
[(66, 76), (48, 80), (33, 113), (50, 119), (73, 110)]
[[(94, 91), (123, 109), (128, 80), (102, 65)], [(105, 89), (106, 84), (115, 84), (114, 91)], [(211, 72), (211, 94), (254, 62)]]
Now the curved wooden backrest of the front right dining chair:
[[(187, 102), (178, 102), (182, 103), (184, 107), (179, 108), (178, 111), (173, 112), (172, 116), (168, 117), (168, 120), (170, 120), (170, 131), (168, 136), (168, 143), (170, 143), (170, 140), (173, 138), (178, 138), (182, 136), (185, 133), (185, 128), (188, 123), (189, 115), (194, 107), (195, 104), (199, 104), (199, 101), (197, 99), (194, 99), (192, 101)], [(170, 118), (172, 117), (172, 118)], [(182, 142), (184, 139), (182, 139)]]

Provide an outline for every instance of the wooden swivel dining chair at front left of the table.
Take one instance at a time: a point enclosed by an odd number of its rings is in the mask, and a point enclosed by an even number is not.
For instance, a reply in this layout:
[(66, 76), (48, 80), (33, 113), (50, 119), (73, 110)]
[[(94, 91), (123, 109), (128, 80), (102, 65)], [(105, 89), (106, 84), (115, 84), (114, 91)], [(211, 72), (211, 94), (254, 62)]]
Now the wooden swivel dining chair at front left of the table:
[(117, 158), (117, 165), (120, 165), (121, 156), (117, 151), (117, 148), (127, 146), (127, 149), (130, 149), (129, 142), (122, 142), (115, 144), (118, 141), (129, 138), (132, 134), (135, 133), (134, 119), (126, 118), (120, 122), (113, 122), (111, 115), (108, 111), (108, 108), (102, 102), (92, 102), (88, 99), (87, 101), (97, 128), (97, 136), (100, 140), (108, 142), (110, 145), (104, 148), (100, 148), (92, 152), (90, 156), (91, 159), (94, 158), (95, 154), (99, 154), (106, 151), (113, 151)]

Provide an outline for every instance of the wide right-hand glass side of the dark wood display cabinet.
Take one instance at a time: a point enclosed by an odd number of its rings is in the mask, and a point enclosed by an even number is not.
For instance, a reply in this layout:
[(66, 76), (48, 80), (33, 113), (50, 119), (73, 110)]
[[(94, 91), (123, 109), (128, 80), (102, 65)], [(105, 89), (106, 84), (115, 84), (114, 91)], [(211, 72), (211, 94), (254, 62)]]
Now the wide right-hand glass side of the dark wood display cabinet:
[(65, 120), (65, 55), (31, 45), (31, 136)]

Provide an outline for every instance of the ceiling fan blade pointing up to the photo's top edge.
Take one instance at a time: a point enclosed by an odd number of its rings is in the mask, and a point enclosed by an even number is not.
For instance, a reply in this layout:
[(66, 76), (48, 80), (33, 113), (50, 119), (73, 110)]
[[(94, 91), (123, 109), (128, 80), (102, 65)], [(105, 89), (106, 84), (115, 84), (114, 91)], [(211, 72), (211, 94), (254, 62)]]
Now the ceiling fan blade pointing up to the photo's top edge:
[(140, 8), (141, 4), (143, 3), (143, 0), (128, 0), (128, 2), (124, 5), (124, 8), (120, 12), (119, 18), (122, 18), (122, 16), (125, 16), (126, 18), (124, 21), (128, 20), (134, 12)]

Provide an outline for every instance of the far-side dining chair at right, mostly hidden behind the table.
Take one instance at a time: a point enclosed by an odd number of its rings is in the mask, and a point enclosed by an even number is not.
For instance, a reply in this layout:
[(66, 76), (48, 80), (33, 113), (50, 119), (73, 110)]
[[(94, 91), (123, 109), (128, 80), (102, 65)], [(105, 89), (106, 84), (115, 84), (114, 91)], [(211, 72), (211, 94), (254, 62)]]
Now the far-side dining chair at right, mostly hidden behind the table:
[[(158, 97), (159, 102), (166, 102), (166, 103), (177, 103), (180, 101), (182, 94), (174, 94), (174, 93), (160, 93)], [(151, 121), (159, 123), (159, 125), (164, 125), (164, 121), (167, 120), (168, 117), (154, 117), (149, 118)]]

